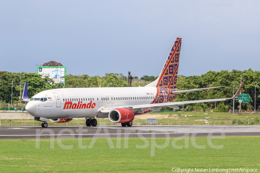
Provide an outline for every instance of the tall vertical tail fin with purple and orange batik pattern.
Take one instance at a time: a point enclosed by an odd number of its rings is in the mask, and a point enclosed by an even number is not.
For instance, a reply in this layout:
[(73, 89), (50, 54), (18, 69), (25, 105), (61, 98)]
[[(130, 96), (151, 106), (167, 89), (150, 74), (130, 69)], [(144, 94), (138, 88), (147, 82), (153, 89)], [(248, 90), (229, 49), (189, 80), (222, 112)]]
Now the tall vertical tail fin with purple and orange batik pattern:
[(162, 69), (156, 87), (176, 88), (179, 67), (179, 57), (181, 50), (181, 38), (176, 38), (169, 56)]

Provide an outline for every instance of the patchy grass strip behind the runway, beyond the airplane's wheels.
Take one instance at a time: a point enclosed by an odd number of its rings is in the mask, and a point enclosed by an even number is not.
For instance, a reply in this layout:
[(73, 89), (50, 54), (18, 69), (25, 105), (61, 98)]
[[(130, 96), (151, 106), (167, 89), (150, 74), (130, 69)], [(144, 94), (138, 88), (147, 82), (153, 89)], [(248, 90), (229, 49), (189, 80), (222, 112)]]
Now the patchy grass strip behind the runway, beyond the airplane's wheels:
[[(146, 125), (146, 118), (156, 118), (158, 125), (260, 125), (260, 114), (232, 114), (224, 112), (155, 112), (151, 114), (136, 116), (133, 120), (135, 125)], [(21, 126), (21, 125), (38, 125), (42, 122), (34, 121), (33, 119), (1, 119), (1, 126)], [(97, 119), (97, 125), (120, 125), (111, 123), (109, 119)], [(142, 123), (142, 124), (141, 124)], [(172, 123), (172, 124), (171, 124)], [(49, 126), (54, 125), (86, 125), (85, 119), (73, 119), (66, 123), (52, 123), (48, 121)], [(148, 124), (147, 124), (148, 125)], [(150, 124), (149, 124), (150, 125)], [(153, 125), (157, 125), (153, 124)]]

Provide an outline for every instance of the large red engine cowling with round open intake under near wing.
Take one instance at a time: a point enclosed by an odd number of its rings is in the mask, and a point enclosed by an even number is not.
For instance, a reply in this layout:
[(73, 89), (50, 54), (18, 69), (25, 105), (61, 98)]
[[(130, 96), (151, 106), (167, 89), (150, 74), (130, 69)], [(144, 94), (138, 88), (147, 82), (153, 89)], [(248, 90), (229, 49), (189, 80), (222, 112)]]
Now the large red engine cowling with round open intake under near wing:
[(129, 123), (135, 118), (132, 110), (126, 108), (116, 108), (109, 112), (108, 118), (112, 123)]

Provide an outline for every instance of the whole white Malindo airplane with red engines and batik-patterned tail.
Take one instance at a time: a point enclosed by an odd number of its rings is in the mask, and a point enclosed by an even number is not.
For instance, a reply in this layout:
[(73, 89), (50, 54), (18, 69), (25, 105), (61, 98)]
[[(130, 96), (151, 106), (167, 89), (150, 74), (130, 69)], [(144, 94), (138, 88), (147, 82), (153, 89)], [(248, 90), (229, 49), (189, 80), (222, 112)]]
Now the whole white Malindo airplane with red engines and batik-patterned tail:
[(184, 91), (176, 89), (180, 50), (181, 38), (176, 38), (159, 77), (144, 87), (51, 89), (28, 99), (26, 83), (23, 101), (28, 101), (28, 104), (25, 109), (35, 117), (34, 120), (43, 122), (42, 127), (48, 127), (47, 119), (66, 123), (73, 118), (83, 117), (86, 118), (86, 126), (96, 126), (97, 118), (109, 118), (112, 123), (131, 127), (135, 116), (160, 111), (163, 107), (179, 109), (178, 106), (184, 104), (225, 101), (238, 97), (244, 81), (231, 98), (172, 102), (179, 93), (224, 87)]

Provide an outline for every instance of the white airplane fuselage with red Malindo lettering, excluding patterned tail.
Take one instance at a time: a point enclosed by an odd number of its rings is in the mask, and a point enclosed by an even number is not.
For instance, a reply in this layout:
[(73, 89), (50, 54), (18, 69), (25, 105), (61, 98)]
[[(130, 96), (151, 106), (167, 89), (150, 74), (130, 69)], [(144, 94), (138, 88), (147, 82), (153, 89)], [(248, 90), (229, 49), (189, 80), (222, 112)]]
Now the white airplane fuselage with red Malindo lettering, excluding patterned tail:
[[(156, 87), (51, 89), (34, 95), (26, 110), (34, 117), (47, 119), (107, 118), (108, 114), (100, 109), (150, 104), (156, 95)], [(157, 99), (166, 101), (166, 97)]]

